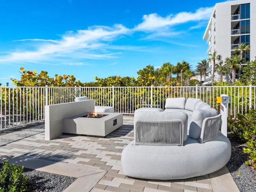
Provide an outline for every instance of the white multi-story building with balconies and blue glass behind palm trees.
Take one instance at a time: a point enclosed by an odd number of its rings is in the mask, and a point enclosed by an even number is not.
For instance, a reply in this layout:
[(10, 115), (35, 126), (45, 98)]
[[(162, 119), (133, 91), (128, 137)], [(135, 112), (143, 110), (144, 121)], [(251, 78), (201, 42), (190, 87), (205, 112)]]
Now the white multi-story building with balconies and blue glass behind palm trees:
[[(250, 45), (250, 52), (244, 51), (243, 57), (247, 61), (256, 56), (256, 0), (234, 0), (217, 3), (210, 17), (204, 33), (204, 40), (208, 44), (207, 54), (222, 56), (225, 58), (235, 53), (235, 47), (241, 43)], [(218, 63), (216, 61), (216, 63)], [(211, 82), (212, 62), (209, 62), (209, 78), (204, 84)], [(214, 73), (214, 81), (219, 79), (218, 72)], [(224, 81), (230, 81), (230, 74), (224, 77)]]

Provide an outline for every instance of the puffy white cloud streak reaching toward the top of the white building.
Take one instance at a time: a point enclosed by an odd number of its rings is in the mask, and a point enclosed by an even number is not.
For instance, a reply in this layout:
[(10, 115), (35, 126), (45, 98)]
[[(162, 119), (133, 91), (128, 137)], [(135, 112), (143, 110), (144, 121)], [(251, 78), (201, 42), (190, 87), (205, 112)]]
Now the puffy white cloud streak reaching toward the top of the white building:
[(154, 31), (159, 28), (168, 28), (172, 25), (183, 24), (186, 22), (194, 22), (200, 20), (208, 20), (212, 14), (213, 7), (199, 8), (196, 12), (180, 12), (176, 15), (166, 17), (159, 16), (156, 13), (144, 15), (143, 22), (138, 24), (134, 30), (138, 31)]

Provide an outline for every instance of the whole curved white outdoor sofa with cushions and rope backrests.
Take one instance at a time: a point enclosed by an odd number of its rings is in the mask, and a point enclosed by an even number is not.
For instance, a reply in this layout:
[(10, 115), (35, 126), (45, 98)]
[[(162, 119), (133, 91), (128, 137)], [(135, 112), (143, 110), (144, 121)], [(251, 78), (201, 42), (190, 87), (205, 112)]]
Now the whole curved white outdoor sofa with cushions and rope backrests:
[(164, 112), (143, 109), (134, 113), (134, 141), (121, 155), (124, 174), (185, 179), (226, 165), (231, 144), (220, 132), (221, 115), (200, 99), (184, 99), (166, 99)]

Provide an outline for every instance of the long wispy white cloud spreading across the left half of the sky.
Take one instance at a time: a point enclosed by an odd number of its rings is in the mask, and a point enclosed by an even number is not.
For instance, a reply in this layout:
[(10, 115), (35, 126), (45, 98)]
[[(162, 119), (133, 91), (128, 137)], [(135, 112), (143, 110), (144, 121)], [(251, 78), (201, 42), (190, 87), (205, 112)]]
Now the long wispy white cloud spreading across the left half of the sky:
[(17, 41), (41, 41), (36, 50), (12, 52), (0, 56), (0, 63), (8, 61), (36, 62), (50, 61), (56, 58), (115, 58), (119, 52), (106, 51), (109, 42), (113, 42), (129, 34), (129, 29), (121, 24), (109, 26), (94, 26), (88, 30), (68, 32), (60, 40), (23, 39)]

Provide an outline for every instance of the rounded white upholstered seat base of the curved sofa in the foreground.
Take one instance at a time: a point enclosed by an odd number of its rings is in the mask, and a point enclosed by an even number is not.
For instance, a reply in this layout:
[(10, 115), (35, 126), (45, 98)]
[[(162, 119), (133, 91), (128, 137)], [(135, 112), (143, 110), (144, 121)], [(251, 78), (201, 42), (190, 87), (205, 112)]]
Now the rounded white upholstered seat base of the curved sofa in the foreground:
[(215, 172), (231, 156), (231, 144), (221, 132), (205, 143), (188, 136), (183, 146), (135, 145), (122, 151), (124, 174), (144, 179), (186, 179)]

